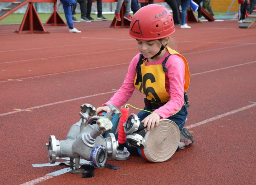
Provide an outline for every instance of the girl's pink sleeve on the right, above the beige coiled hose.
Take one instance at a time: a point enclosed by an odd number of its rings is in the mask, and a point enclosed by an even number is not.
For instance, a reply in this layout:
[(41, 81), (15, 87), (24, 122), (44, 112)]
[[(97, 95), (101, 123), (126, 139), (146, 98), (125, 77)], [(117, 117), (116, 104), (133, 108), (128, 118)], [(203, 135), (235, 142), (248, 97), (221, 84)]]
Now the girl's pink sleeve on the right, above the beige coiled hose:
[(162, 118), (168, 118), (177, 113), (184, 103), (185, 64), (183, 60), (177, 55), (172, 55), (167, 60), (165, 67), (170, 88), (167, 93), (171, 98), (168, 103), (154, 111)]

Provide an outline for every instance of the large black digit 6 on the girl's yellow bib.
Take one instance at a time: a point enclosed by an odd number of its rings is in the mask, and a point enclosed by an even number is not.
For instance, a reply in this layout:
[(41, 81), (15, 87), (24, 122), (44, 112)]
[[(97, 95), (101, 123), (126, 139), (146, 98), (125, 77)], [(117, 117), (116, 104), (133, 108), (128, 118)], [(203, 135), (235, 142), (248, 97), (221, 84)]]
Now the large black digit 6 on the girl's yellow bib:
[(152, 73), (146, 73), (143, 78), (142, 78), (142, 84), (141, 86), (139, 87), (139, 91), (141, 92), (142, 90), (142, 86), (143, 86), (143, 91), (144, 93), (146, 94), (146, 96), (148, 96), (149, 93), (151, 93), (154, 98), (152, 97), (152, 101), (156, 101), (156, 102), (161, 102), (161, 99), (158, 97), (158, 95), (156, 94), (155, 90), (153, 87), (145, 87), (146, 85), (146, 81), (147, 80), (150, 80), (151, 83), (154, 83), (155, 82), (155, 77)]

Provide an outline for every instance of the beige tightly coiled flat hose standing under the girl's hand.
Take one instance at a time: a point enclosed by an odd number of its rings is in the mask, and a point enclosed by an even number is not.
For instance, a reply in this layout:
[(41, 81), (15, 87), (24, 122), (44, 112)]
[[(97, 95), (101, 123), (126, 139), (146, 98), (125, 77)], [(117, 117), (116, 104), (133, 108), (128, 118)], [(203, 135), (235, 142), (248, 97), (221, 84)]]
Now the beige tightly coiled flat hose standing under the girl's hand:
[(178, 148), (179, 127), (169, 119), (160, 119), (158, 127), (147, 131), (144, 139), (145, 148), (138, 149), (140, 156), (150, 162), (164, 162)]

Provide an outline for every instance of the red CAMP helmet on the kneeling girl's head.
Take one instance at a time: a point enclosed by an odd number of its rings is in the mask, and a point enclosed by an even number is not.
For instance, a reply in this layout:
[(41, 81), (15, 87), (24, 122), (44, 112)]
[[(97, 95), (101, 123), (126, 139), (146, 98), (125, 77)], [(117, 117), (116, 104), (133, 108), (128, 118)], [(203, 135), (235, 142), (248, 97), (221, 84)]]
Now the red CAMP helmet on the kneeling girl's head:
[(129, 34), (141, 40), (165, 38), (175, 31), (169, 10), (158, 4), (140, 8), (132, 17)]

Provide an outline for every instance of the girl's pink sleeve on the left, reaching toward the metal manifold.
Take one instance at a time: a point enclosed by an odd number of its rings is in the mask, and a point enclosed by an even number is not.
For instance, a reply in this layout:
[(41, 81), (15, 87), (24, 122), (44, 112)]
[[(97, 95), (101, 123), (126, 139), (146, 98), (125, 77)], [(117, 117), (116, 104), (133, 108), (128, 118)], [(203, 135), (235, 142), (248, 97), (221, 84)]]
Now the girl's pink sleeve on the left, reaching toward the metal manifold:
[(112, 98), (107, 103), (104, 103), (102, 106), (113, 104), (116, 107), (120, 107), (124, 105), (133, 94), (135, 89), (133, 82), (136, 76), (136, 66), (139, 60), (139, 54), (137, 54), (131, 61), (128, 73), (126, 74), (125, 80), (122, 86), (118, 89), (118, 91), (113, 95)]

